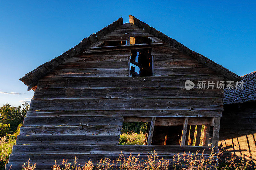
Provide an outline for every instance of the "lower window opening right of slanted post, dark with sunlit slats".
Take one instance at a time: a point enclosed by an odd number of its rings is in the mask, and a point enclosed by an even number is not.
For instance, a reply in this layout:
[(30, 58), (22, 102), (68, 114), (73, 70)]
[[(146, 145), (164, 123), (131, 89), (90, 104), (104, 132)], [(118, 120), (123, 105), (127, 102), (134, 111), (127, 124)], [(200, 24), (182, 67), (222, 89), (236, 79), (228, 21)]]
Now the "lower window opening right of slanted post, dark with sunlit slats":
[[(152, 145), (208, 146), (212, 143), (212, 118), (158, 117), (156, 118)], [(183, 132), (184, 130), (184, 132)]]

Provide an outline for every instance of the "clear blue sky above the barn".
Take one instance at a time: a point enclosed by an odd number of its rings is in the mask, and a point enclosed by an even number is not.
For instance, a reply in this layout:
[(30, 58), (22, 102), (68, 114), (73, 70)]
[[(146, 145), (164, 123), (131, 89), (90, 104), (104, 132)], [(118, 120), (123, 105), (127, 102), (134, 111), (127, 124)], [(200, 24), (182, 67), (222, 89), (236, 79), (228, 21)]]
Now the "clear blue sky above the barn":
[[(30, 100), (19, 78), (129, 14), (239, 76), (256, 70), (256, 1), (1, 1), (0, 105)], [(8, 94), (10, 92), (21, 94)]]

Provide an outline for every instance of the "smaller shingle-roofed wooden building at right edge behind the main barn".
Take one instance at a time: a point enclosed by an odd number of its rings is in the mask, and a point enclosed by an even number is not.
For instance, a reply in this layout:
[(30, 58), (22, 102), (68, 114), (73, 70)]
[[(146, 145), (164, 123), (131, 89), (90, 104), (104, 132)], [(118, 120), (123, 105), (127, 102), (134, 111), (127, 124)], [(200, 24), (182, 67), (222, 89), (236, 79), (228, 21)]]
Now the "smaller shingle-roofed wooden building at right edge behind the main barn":
[[(220, 146), (256, 163), (256, 71), (242, 76), (243, 88), (224, 90)], [(251, 153), (251, 155), (250, 155)]]

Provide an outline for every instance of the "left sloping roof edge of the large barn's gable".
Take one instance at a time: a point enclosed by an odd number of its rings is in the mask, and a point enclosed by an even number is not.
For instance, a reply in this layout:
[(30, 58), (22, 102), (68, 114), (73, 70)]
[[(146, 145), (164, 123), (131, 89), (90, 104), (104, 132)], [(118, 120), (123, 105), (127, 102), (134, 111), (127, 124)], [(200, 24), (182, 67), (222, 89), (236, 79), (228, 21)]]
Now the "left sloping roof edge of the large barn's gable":
[(84, 38), (75, 47), (70, 48), (68, 51), (62, 53), (60, 56), (53, 58), (50, 62), (46, 62), (37, 67), (36, 69), (30, 71), (19, 80), (28, 86), (28, 91), (31, 90), (36, 86), (39, 78), (42, 78), (44, 75), (49, 73), (54, 68), (58, 67), (61, 63), (67, 61), (69, 58), (83, 52), (86, 48), (90, 47), (93, 43), (96, 43), (100, 38), (102, 38), (102, 36), (105, 36), (108, 33), (114, 31), (121, 25), (123, 25), (122, 17), (113, 22), (112, 24), (102, 28), (97, 33), (94, 33), (89, 37)]

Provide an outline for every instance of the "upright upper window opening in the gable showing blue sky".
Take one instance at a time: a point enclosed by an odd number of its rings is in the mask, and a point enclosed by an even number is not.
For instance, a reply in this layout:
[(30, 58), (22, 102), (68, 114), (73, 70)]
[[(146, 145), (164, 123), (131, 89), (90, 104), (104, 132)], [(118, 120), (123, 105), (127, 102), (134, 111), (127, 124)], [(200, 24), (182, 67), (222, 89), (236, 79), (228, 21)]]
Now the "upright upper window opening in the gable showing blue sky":
[(130, 56), (130, 73), (131, 77), (153, 76), (151, 48), (132, 50)]

